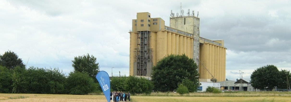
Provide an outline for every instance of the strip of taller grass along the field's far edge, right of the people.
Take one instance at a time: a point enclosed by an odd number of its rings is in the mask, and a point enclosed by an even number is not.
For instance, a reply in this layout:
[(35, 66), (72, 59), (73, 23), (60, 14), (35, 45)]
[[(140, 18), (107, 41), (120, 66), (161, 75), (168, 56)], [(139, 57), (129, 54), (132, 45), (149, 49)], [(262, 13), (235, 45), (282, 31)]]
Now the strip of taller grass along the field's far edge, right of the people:
[(182, 96), (182, 97), (273, 97), (284, 96), (291, 97), (291, 92), (223, 92), (223, 93), (208, 93), (208, 92), (194, 92), (188, 94), (178, 94), (173, 92), (152, 92), (150, 94), (135, 94), (135, 96)]

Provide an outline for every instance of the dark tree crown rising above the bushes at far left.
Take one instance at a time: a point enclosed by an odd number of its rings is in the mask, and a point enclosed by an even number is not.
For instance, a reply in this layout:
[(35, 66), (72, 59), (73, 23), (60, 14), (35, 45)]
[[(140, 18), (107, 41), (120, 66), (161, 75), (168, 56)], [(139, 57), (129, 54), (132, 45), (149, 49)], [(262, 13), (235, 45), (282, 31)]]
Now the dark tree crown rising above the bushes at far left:
[(0, 55), (0, 65), (5, 66), (9, 70), (14, 69), (16, 66), (25, 67), (22, 60), (18, 58), (18, 55), (10, 50)]

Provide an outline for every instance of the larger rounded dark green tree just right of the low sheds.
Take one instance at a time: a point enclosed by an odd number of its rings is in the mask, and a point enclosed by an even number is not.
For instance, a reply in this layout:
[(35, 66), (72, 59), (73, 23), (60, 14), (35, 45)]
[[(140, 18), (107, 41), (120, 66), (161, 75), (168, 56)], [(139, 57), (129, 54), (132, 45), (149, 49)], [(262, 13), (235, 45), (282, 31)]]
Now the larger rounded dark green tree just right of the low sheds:
[(251, 74), (251, 85), (254, 88), (272, 90), (279, 84), (280, 72), (274, 65), (257, 68)]

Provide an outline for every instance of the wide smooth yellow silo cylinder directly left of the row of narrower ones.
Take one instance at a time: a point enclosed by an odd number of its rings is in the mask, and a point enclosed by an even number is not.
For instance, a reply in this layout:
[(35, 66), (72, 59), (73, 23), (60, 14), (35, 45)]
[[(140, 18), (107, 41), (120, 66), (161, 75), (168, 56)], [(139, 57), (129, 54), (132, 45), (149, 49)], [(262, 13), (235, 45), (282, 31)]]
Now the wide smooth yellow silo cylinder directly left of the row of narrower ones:
[(159, 31), (157, 32), (157, 61), (162, 59), (167, 55), (167, 32)]

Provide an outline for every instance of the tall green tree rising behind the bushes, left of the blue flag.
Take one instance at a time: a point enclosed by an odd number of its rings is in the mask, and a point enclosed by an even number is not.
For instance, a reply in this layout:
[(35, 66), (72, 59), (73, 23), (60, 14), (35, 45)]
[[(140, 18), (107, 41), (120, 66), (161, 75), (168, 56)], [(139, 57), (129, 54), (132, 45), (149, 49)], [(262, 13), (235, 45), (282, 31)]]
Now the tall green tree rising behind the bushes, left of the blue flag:
[(97, 82), (95, 76), (99, 72), (99, 63), (96, 63), (96, 61), (97, 58), (93, 55), (90, 56), (89, 53), (87, 53), (87, 55), (75, 57), (74, 60), (72, 60), (72, 66), (74, 67), (74, 71), (86, 72), (95, 82)]

